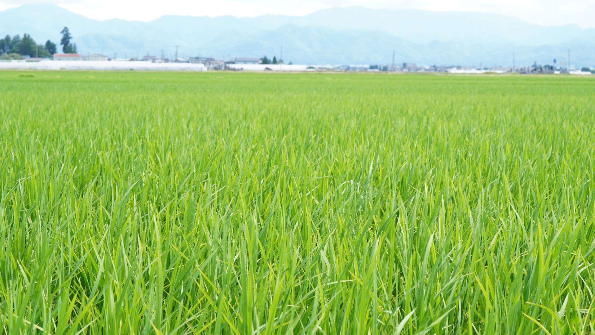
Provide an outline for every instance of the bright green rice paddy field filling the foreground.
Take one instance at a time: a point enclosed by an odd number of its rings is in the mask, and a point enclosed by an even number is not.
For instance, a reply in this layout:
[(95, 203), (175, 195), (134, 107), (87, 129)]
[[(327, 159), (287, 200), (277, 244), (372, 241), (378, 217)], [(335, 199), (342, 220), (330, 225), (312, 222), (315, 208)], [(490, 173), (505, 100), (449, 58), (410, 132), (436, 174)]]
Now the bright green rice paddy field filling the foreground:
[(0, 334), (595, 334), (593, 97), (0, 72)]

